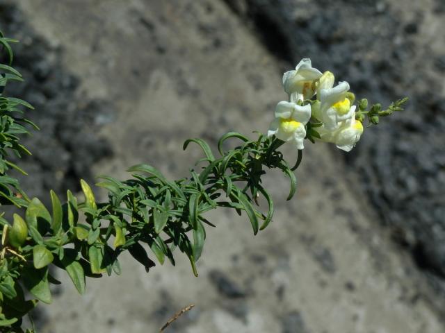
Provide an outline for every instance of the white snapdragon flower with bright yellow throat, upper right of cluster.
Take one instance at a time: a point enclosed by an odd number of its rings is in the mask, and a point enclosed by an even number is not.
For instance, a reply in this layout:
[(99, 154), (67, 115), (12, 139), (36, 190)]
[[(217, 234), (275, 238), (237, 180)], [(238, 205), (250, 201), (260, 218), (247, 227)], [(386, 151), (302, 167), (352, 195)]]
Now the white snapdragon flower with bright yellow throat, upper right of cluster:
[(314, 117), (323, 121), (327, 130), (336, 130), (342, 121), (355, 114), (355, 107), (350, 105), (350, 99), (346, 97), (348, 90), (347, 82), (340, 82), (329, 89), (320, 89), (317, 96), (320, 103), (314, 105)]

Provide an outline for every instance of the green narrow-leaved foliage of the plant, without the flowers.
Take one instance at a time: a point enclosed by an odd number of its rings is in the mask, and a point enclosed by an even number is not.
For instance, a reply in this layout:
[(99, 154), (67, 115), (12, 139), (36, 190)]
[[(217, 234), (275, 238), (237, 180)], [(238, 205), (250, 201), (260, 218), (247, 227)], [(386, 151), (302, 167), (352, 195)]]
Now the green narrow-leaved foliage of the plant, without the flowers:
[[(7, 58), (7, 63), (0, 65), (0, 204), (16, 205), (24, 212), (23, 217), (14, 214), (13, 223), (0, 216), (1, 332), (23, 332), (22, 317), (39, 300), (51, 303), (50, 284), (60, 284), (49, 273), (51, 264), (66, 271), (81, 294), (86, 291), (86, 277), (120, 274), (118, 258), (126, 250), (148, 272), (155, 266), (152, 258), (160, 264), (168, 259), (175, 265), (173, 252), (179, 249), (197, 275), (196, 262), (204, 250), (206, 228), (215, 227), (206, 219), (207, 212), (218, 207), (232, 208), (240, 215), (245, 212), (257, 234), (273, 216), (273, 200), (261, 185), (264, 169), (281, 169), (291, 181), (288, 199), (295, 193), (295, 175), (276, 151), (283, 142), (265, 135), (252, 141), (232, 132), (220, 138), (217, 157), (202, 139), (184, 142), (184, 149), (197, 144), (204, 153), (196, 164), (200, 167), (191, 169), (188, 178), (168, 180), (156, 168), (138, 164), (128, 170), (133, 176), (129, 180), (100, 177), (96, 185), (108, 191), (104, 203), (97, 202), (85, 180), (81, 180), (81, 202), (71, 191), (63, 201), (50, 191), (51, 208), (38, 198), (30, 200), (18, 180), (8, 175), (11, 169), (25, 173), (9, 155), (31, 155), (19, 143), (20, 138), (29, 134), (26, 124), (38, 128), (23, 117), (24, 110), (33, 109), (29, 103), (3, 95), (9, 80), (22, 80), (10, 67), (11, 42), (16, 41), (0, 34)], [(223, 151), (228, 139), (240, 144)], [(259, 196), (266, 199), (266, 212), (259, 209)], [(83, 219), (79, 219), (80, 214)], [(35, 299), (26, 300), (22, 288)]]

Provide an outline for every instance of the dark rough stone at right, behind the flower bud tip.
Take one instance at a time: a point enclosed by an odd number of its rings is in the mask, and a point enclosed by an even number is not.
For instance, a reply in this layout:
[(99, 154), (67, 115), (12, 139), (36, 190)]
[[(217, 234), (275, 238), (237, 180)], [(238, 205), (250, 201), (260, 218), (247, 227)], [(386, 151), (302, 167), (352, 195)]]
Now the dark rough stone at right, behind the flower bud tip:
[(314, 67), (333, 71), (370, 103), (410, 97), (403, 114), (380, 119), (345, 158), (359, 169), (380, 221), (443, 292), (444, 1), (225, 2), (278, 58), (312, 58)]

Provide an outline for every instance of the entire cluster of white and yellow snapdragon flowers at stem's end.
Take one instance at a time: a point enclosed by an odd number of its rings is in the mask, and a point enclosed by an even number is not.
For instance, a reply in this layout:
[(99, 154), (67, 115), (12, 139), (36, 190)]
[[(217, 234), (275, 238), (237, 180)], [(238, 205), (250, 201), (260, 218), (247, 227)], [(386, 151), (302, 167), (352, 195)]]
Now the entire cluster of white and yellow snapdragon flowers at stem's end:
[(299, 150), (305, 138), (334, 143), (343, 151), (354, 148), (363, 125), (356, 120), (355, 96), (347, 82), (334, 86), (334, 74), (322, 74), (310, 59), (302, 59), (294, 71), (284, 73), (283, 86), (289, 101), (277, 104), (268, 136), (291, 142)]

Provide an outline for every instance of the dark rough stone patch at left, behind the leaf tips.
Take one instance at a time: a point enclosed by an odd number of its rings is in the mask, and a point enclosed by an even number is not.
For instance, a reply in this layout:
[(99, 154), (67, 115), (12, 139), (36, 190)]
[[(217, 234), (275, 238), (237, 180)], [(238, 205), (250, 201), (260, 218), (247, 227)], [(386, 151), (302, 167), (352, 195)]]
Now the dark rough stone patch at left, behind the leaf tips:
[(24, 139), (33, 155), (19, 162), (32, 177), (17, 177), (29, 196), (49, 203), (49, 189), (58, 194), (80, 189), (79, 178), (91, 181), (92, 165), (111, 155), (111, 146), (96, 133), (112, 109), (83, 98), (81, 78), (60, 63), (60, 45), (36, 35), (16, 6), (0, 3), (0, 27), (20, 40), (13, 44), (14, 66), (25, 78), (9, 83), (5, 93), (29, 101), (35, 110), (27, 110), (27, 117), (41, 128)]

